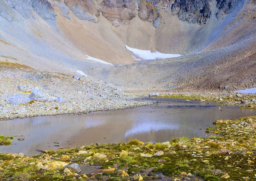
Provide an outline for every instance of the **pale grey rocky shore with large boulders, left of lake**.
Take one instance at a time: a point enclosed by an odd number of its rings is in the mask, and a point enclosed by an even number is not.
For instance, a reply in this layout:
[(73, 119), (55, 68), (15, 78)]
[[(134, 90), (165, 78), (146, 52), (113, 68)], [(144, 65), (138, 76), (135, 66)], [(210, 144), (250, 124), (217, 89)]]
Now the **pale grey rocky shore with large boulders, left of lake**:
[(0, 120), (81, 114), (151, 104), (134, 101), (111, 84), (76, 73), (43, 72), (19, 64), (0, 66)]

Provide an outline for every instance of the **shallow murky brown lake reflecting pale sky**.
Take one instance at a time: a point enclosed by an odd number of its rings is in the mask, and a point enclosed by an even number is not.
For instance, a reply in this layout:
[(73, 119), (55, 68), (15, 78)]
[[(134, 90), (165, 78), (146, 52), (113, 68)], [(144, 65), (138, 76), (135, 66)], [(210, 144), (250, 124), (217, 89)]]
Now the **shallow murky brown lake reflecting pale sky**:
[[(256, 115), (256, 110), (223, 107), (213, 102), (143, 98), (161, 101), (134, 109), (91, 112), (0, 121), (0, 134), (18, 136), (0, 152), (38, 154), (59, 147), (81, 147), (90, 143), (119, 143), (131, 139), (164, 142), (176, 137), (205, 137), (205, 129), (219, 119)], [(24, 141), (17, 138), (23, 135)]]

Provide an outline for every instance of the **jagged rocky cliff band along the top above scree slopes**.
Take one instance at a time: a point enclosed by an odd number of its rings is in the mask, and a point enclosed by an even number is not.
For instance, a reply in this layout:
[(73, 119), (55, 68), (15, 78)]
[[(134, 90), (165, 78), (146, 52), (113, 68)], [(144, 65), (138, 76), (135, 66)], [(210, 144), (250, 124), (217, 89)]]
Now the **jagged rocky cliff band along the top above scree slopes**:
[[(180, 20), (189, 23), (206, 23), (212, 15), (238, 11), (246, 0), (217, 0), (217, 14), (212, 14), (212, 0), (2, 0), (0, 15), (9, 21), (18, 20), (19, 13), (24, 18), (36, 18), (35, 11), (44, 20), (54, 20), (54, 6), (64, 17), (70, 19), (70, 10), (81, 20), (98, 23), (100, 12), (113, 26), (129, 24), (137, 15), (143, 21), (152, 22), (154, 27), (163, 23), (161, 11), (171, 11)], [(256, 0), (254, 0), (256, 3)]]

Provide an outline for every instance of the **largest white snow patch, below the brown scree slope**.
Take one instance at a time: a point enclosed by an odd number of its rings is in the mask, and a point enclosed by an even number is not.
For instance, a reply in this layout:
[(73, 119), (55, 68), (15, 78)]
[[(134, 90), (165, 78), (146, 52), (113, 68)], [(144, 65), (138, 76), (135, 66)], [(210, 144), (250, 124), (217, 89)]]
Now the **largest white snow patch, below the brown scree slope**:
[(167, 54), (167, 53), (160, 53), (160, 52), (151, 52), (150, 50), (140, 50), (140, 49), (133, 49), (127, 45), (125, 45), (126, 49), (132, 52), (137, 57), (140, 57), (144, 60), (157, 60), (163, 58), (173, 58), (173, 57), (180, 57), (182, 55), (179, 54)]

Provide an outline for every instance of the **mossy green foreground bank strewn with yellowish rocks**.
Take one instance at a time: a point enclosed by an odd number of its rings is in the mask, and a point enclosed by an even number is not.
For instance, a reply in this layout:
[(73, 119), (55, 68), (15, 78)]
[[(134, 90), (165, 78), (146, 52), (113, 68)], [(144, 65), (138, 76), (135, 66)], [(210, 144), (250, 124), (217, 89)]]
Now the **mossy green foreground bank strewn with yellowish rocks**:
[[(216, 134), (209, 138), (174, 138), (157, 144), (138, 140), (91, 144), (44, 151), (31, 158), (22, 153), (1, 153), (0, 180), (256, 180), (256, 117), (218, 120), (215, 124), (207, 128), (207, 132)], [(87, 169), (76, 173), (76, 169), (63, 168), (73, 163)]]

